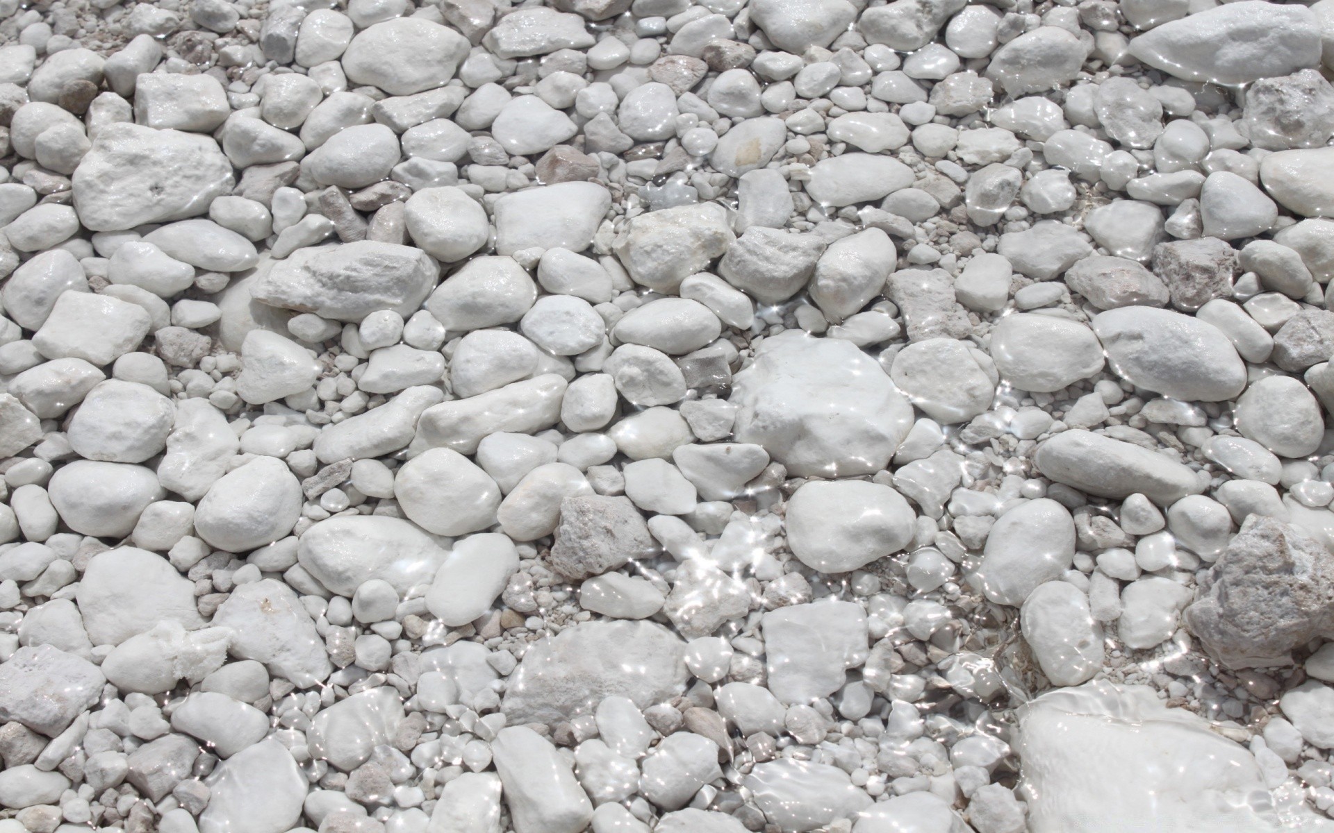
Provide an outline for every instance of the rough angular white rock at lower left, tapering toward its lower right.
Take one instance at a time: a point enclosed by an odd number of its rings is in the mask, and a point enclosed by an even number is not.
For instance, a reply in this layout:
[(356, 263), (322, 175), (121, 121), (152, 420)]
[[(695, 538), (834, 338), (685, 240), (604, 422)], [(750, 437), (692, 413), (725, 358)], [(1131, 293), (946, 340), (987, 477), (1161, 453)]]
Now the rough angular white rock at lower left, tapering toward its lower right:
[(334, 670), (315, 620), (281, 581), (261, 578), (236, 586), (213, 613), (213, 625), (232, 629), (228, 649), (233, 657), (263, 662), (269, 673), (300, 688), (321, 682)]

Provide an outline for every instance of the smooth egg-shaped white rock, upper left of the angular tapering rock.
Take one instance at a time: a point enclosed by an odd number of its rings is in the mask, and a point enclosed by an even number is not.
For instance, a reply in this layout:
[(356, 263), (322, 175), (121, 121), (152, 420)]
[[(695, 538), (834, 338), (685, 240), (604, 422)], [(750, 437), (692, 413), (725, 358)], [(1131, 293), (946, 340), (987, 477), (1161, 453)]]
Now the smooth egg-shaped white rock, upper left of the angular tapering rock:
[(195, 508), (195, 532), (219, 549), (247, 552), (291, 532), (301, 502), (301, 484), (285, 462), (255, 457), (208, 488)]

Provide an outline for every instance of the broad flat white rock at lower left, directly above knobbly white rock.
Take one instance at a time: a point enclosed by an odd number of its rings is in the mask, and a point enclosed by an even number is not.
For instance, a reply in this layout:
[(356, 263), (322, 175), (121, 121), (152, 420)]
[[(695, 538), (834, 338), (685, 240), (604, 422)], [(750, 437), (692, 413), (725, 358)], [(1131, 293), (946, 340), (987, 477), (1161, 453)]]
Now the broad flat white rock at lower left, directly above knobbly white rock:
[(195, 606), (195, 582), (167, 558), (133, 546), (93, 556), (75, 598), (93, 645), (119, 645), (161, 620), (187, 629), (204, 624)]

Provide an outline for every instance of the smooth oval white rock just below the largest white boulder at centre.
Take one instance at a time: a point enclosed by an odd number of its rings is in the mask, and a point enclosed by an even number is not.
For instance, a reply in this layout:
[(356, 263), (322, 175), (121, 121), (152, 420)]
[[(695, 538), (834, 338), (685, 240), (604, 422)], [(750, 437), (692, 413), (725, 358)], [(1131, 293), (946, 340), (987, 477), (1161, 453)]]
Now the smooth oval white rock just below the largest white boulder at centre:
[(916, 529), (902, 494), (863, 480), (806, 482), (787, 501), (786, 521), (792, 554), (822, 573), (847, 573), (894, 554)]

